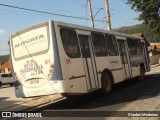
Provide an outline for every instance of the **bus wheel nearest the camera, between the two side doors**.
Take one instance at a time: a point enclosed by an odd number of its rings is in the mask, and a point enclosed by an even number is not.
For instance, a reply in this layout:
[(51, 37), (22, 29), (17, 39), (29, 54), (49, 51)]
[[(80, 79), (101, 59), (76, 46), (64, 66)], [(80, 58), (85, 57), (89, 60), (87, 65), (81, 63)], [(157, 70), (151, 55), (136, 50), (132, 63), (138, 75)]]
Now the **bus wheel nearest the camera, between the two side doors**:
[(102, 94), (107, 95), (112, 91), (112, 77), (108, 72), (102, 74)]

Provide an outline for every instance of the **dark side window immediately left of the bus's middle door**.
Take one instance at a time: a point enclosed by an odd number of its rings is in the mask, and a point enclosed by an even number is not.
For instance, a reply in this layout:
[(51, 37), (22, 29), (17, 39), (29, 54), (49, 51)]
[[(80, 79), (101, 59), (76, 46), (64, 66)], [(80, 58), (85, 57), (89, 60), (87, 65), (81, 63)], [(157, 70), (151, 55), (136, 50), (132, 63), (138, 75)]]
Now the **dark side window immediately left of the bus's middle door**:
[(108, 47), (108, 53), (110, 56), (118, 56), (117, 42), (115, 36), (105, 35), (105, 40)]

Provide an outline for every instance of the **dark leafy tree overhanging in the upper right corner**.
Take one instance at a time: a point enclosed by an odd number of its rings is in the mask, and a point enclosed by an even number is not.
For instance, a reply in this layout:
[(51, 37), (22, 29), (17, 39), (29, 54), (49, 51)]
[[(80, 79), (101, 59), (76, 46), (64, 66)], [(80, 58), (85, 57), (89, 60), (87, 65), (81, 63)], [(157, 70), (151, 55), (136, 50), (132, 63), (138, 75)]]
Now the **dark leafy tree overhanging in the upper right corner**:
[(155, 34), (160, 36), (160, 0), (128, 0), (132, 9), (140, 12), (139, 20), (143, 20)]

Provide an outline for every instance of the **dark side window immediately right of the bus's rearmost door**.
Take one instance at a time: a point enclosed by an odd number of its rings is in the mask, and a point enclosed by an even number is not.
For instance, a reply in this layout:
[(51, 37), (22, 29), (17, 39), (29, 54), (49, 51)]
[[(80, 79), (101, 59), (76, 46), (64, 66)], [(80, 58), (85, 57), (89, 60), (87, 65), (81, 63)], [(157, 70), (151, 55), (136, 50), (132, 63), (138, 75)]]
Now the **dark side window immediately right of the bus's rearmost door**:
[(105, 38), (103, 34), (92, 33), (92, 41), (94, 46), (94, 52), (97, 57), (108, 55)]

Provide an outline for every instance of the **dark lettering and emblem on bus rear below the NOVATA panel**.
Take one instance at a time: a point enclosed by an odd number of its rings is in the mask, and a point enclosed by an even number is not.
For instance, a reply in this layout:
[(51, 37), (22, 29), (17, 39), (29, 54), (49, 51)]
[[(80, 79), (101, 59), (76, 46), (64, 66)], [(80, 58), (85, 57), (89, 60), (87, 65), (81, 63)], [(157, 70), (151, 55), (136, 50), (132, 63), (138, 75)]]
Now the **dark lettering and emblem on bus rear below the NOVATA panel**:
[(20, 69), (20, 74), (30, 73), (31, 76), (42, 74), (43, 73), (43, 65), (38, 64), (37, 61), (31, 60), (27, 61), (23, 69)]

